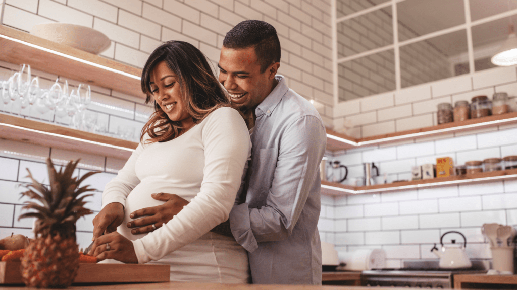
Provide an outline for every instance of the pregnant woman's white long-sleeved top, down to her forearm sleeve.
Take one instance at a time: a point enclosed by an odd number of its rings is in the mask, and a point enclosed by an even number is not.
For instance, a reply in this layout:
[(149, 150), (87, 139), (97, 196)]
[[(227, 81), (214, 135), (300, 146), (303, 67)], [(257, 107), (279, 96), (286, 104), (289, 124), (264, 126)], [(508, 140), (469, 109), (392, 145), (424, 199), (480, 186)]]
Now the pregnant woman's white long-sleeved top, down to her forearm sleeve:
[[(125, 206), (125, 220), (117, 231), (132, 240), (139, 263), (158, 261), (225, 221), (250, 152), (246, 124), (228, 107), (211, 112), (176, 139), (140, 143), (102, 194), (103, 205), (119, 202)], [(150, 197), (159, 192), (176, 194), (190, 203), (154, 232), (131, 234), (126, 227), (129, 214), (162, 204)]]

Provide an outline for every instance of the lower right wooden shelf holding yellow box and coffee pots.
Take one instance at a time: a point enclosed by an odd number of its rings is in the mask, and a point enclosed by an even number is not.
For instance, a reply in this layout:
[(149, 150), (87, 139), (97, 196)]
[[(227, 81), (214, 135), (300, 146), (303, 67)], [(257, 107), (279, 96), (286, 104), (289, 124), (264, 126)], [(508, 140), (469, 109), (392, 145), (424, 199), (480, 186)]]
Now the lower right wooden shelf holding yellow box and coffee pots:
[(492, 172), (482, 172), (475, 174), (465, 174), (460, 176), (450, 176), (444, 178), (433, 178), (415, 181), (404, 181), (388, 184), (378, 184), (370, 186), (349, 186), (334, 182), (322, 181), (322, 195), (341, 196), (351, 194), (371, 194), (381, 191), (406, 190), (416, 188), (431, 188), (449, 186), (461, 183), (482, 183), (492, 180), (517, 179), (517, 169), (499, 170)]

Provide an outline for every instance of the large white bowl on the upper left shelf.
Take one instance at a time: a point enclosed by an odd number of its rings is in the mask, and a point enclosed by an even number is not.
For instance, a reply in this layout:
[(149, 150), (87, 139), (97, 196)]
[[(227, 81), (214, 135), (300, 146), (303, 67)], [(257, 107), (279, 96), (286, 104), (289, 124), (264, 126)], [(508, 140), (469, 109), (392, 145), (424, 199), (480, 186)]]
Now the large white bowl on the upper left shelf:
[(100, 31), (71, 23), (34, 25), (30, 34), (93, 54), (99, 54), (111, 45), (110, 39)]

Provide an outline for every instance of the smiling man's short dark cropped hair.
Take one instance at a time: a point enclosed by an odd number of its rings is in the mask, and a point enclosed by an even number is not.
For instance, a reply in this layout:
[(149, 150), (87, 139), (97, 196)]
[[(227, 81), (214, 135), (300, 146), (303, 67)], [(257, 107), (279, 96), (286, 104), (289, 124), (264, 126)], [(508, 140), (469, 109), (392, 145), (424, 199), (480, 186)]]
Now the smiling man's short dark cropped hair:
[(264, 73), (271, 63), (280, 62), (277, 30), (264, 21), (245, 20), (235, 25), (224, 37), (223, 46), (236, 50), (255, 47), (261, 73)]

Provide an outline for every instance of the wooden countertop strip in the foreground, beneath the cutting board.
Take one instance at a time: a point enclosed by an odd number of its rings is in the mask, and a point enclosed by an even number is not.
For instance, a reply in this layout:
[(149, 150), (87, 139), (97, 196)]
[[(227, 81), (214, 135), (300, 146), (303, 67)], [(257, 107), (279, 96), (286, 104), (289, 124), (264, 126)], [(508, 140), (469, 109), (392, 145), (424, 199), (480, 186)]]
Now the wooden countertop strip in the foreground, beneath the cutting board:
[[(164, 282), (147, 284), (117, 284), (117, 285), (85, 285), (71, 286), (70, 290), (132, 290), (132, 289), (196, 289), (196, 290), (364, 290), (360, 286), (314, 286), (314, 285), (253, 285), (253, 284), (216, 284), (216, 283), (193, 283), (193, 282)], [(7, 286), (5, 289), (27, 290), (22, 286)], [(393, 289), (393, 287), (376, 287), (376, 289)]]

